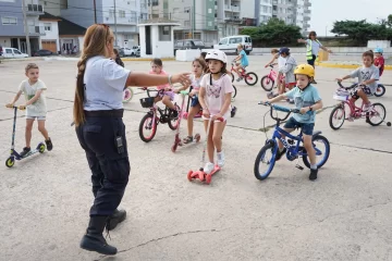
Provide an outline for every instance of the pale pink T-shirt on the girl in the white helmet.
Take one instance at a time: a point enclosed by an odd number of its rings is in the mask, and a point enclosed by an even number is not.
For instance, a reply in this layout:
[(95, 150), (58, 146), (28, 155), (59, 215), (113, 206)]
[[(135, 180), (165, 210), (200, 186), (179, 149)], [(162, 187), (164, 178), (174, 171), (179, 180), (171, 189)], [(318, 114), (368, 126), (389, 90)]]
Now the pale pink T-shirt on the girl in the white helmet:
[[(200, 88), (206, 88), (206, 105), (211, 115), (216, 115), (221, 111), (224, 103), (224, 96), (234, 91), (231, 83), (231, 77), (226, 74), (222, 75), (218, 80), (212, 78), (212, 85), (210, 85), (210, 75), (206, 74), (200, 83)], [(229, 117), (230, 110), (223, 115)]]

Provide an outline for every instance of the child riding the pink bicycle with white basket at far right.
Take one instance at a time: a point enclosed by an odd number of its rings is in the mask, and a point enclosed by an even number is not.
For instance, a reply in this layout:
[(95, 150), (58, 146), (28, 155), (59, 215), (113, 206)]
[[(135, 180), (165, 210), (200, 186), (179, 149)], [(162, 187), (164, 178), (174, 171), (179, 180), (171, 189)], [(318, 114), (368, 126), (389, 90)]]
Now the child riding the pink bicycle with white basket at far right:
[(353, 102), (355, 102), (357, 99), (362, 98), (365, 103), (363, 110), (367, 112), (371, 110), (371, 103), (368, 96), (376, 92), (377, 80), (379, 79), (379, 69), (372, 64), (373, 53), (370, 51), (363, 53), (363, 63), (364, 65), (362, 67), (358, 67), (343, 78), (336, 79), (338, 82), (342, 82), (343, 79), (358, 77), (358, 86), (355, 87), (351, 99)]

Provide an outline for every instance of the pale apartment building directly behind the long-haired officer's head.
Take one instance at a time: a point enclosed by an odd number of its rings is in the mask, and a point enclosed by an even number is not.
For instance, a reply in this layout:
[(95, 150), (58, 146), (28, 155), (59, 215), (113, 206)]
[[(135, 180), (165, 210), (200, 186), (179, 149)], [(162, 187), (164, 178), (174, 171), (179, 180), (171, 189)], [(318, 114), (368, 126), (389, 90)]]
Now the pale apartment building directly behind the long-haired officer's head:
[(131, 48), (138, 45), (137, 24), (140, 20), (147, 20), (148, 0), (60, 0), (60, 2), (61, 17), (85, 28), (95, 22), (107, 24), (115, 33), (117, 46)]

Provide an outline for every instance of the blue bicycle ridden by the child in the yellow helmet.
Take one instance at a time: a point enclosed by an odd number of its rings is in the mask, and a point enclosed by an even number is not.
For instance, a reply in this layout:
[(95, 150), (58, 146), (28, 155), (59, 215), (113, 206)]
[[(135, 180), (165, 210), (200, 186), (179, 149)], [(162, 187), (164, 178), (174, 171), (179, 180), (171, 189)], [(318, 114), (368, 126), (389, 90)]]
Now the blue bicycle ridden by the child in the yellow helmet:
[[(259, 104), (269, 105), (271, 108), (269, 112), (271, 117), (274, 121), (277, 121), (277, 125), (271, 139), (268, 139), (266, 133), (266, 137), (267, 137), (266, 145), (260, 149), (259, 153), (256, 157), (256, 161), (255, 161), (256, 178), (260, 181), (266, 179), (268, 175), (272, 172), (278, 154), (278, 140), (281, 140), (283, 146), (286, 148), (286, 158), (289, 161), (294, 161), (296, 159), (299, 161), (299, 158), (302, 158), (304, 164), (307, 167), (310, 167), (310, 160), (307, 157), (305, 147), (302, 145), (303, 132), (301, 130), (297, 136), (293, 136), (280, 127), (281, 122), (287, 120), (291, 113), (299, 113), (299, 110), (289, 109), (285, 107), (280, 107), (277, 104), (269, 104), (269, 103), (259, 103)], [(278, 117), (278, 115), (274, 116), (272, 114), (273, 110), (286, 112), (287, 114), (285, 115), (285, 117), (280, 119)], [(323, 164), (326, 164), (330, 154), (330, 144), (328, 139), (321, 136), (320, 134), (321, 132), (315, 132), (311, 138), (314, 148), (316, 150), (318, 169), (320, 169)], [(283, 136), (285, 136), (286, 138), (283, 138)], [(267, 166), (267, 170), (261, 170), (262, 166)], [(299, 170), (304, 170), (304, 167), (299, 165), (298, 162), (295, 166)]]

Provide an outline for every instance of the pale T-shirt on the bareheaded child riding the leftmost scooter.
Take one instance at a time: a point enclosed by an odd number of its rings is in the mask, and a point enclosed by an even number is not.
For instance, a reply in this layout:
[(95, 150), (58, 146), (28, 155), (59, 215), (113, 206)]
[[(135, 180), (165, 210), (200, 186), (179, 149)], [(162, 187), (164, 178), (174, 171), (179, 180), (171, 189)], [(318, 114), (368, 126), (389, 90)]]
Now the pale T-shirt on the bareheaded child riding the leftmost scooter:
[(37, 83), (30, 85), (28, 79), (23, 80), (19, 87), (19, 90), (23, 91), (26, 101), (30, 100), (37, 92), (37, 90), (44, 90), (38, 100), (26, 108), (26, 116), (46, 116), (46, 97), (45, 90), (47, 89), (42, 80), (38, 79)]

